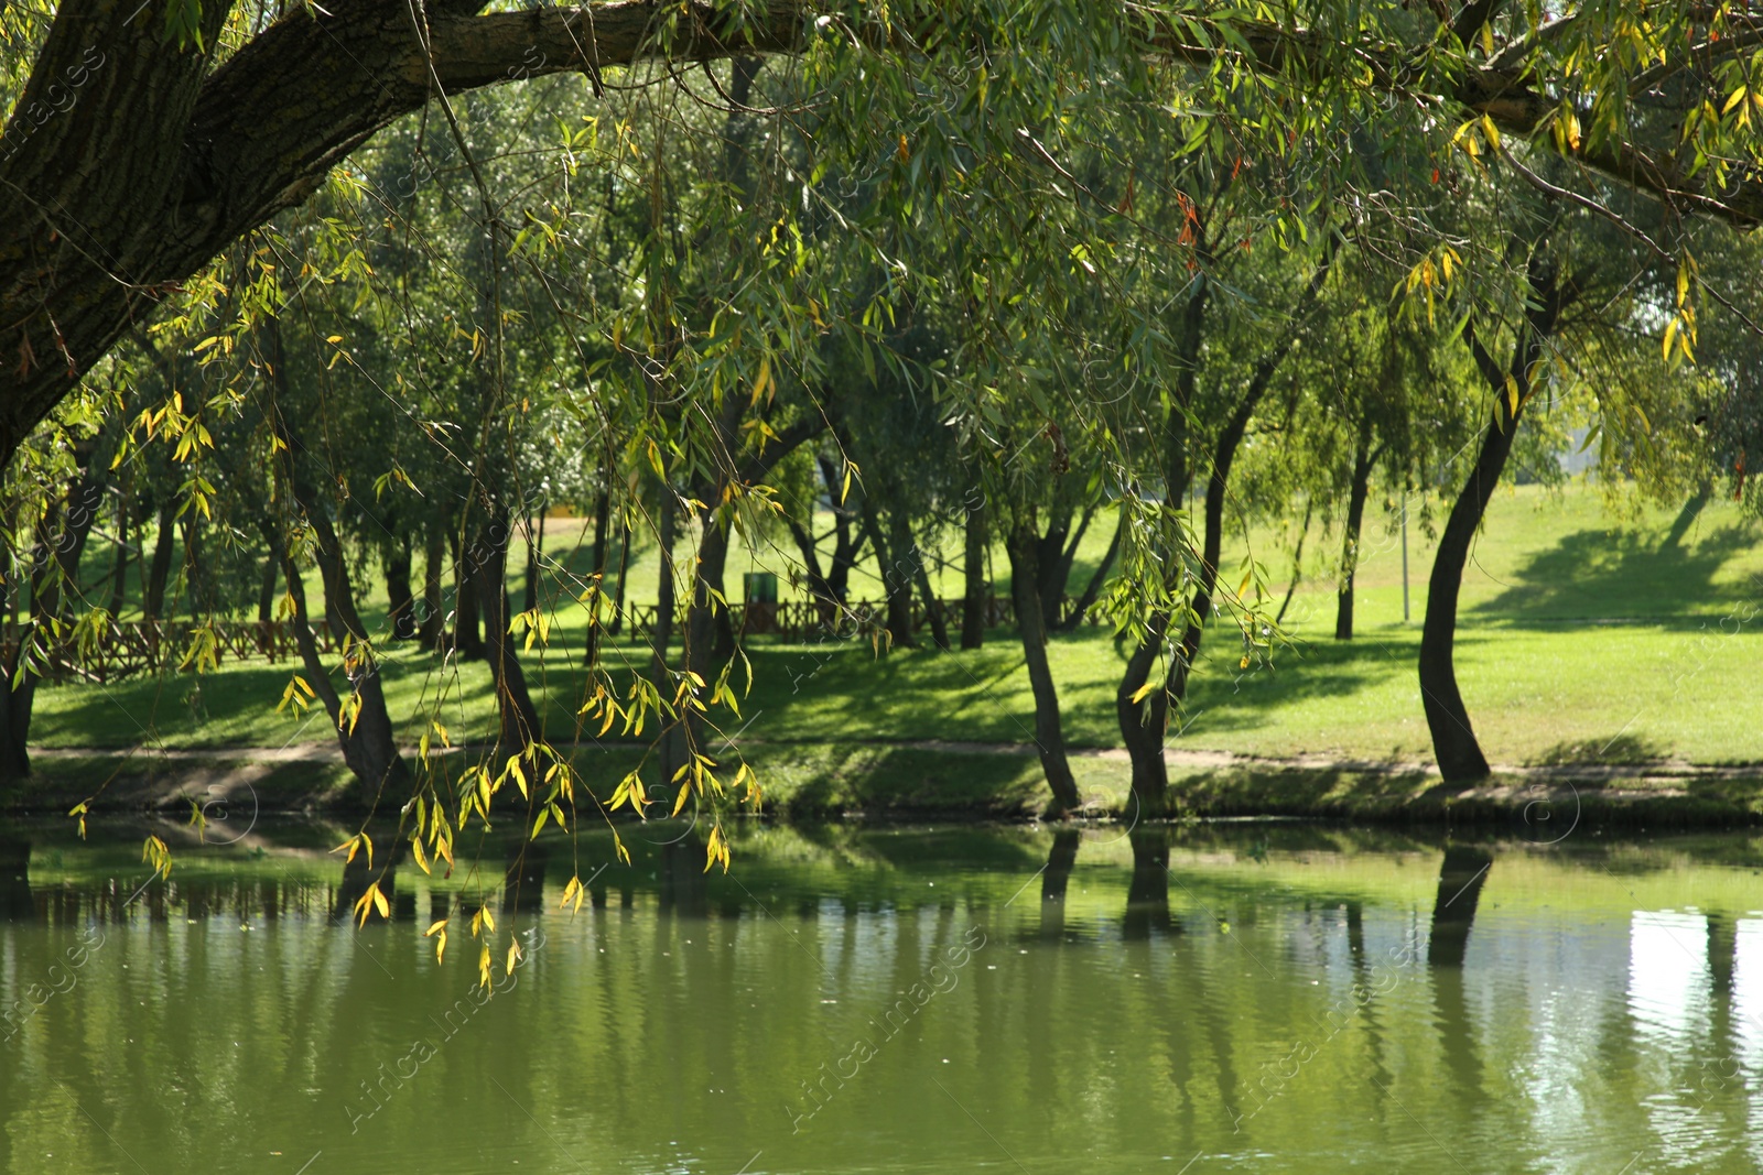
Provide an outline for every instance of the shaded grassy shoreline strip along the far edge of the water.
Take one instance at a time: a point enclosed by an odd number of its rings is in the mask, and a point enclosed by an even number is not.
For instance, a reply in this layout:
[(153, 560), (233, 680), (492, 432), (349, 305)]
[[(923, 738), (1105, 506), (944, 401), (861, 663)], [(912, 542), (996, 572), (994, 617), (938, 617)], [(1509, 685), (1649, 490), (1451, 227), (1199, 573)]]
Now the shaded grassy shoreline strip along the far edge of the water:
[[(584, 779), (635, 766), (622, 743), (571, 747)], [(483, 747), (458, 747), (469, 754)], [(1033, 821), (1045, 787), (1028, 743), (760, 742), (740, 750), (765, 787), (763, 817), (836, 821)], [(1074, 816), (1134, 821), (1118, 749), (1070, 752), (1086, 798)], [(1426, 763), (1165, 752), (1169, 819), (1326, 819), (1365, 824), (1567, 824), (1731, 828), (1763, 824), (1763, 765), (1680, 761), (1495, 766), (1476, 786), (1446, 786)], [(60, 816), (102, 786), (93, 810), (167, 814), (250, 800), (266, 816), (368, 809), (333, 747), (203, 747), (118, 752), (39, 749), (35, 773), (0, 796), (7, 816)], [(108, 782), (106, 782), (108, 780)], [(1566, 833), (1558, 833), (1566, 835)]]

